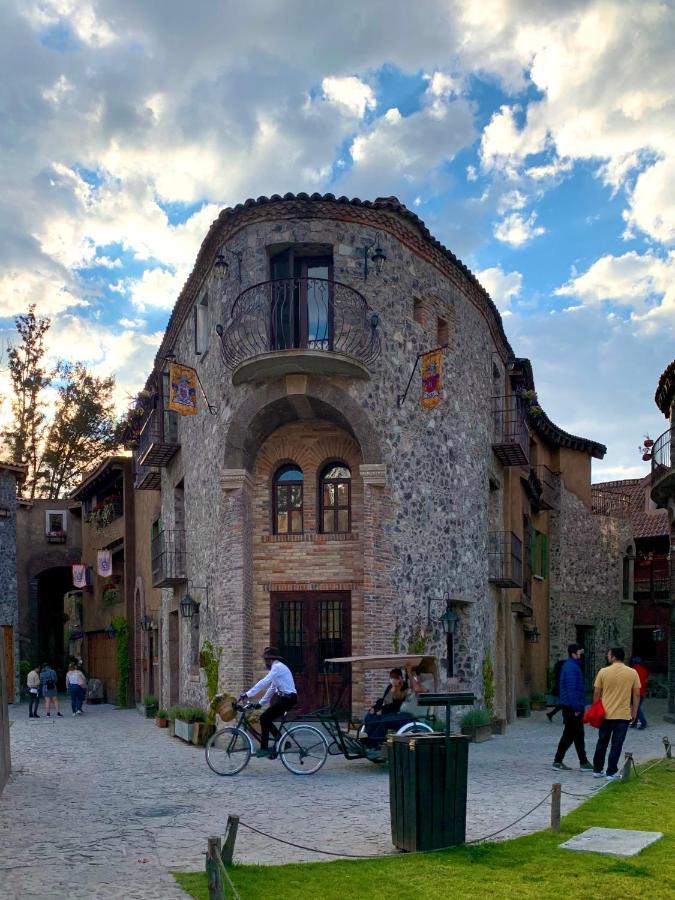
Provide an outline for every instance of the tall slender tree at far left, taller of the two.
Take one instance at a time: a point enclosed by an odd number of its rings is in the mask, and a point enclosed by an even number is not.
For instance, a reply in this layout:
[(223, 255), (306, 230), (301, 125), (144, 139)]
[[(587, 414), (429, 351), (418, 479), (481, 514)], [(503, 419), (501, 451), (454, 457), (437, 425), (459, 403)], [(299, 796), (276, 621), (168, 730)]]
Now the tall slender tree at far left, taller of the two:
[(12, 415), (9, 428), (2, 432), (10, 458), (28, 466), (23, 492), (33, 499), (39, 491), (40, 460), (47, 430), (44, 390), (53, 373), (44, 365), (45, 335), (51, 319), (35, 315), (35, 304), (14, 318), (20, 342), (7, 350), (12, 383)]

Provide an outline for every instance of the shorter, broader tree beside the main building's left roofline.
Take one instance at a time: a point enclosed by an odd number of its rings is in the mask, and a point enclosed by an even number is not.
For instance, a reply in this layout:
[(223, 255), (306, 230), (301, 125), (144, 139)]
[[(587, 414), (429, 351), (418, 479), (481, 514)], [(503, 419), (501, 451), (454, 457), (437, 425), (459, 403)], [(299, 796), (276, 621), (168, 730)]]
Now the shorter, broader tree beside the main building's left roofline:
[(59, 363), (59, 402), (42, 457), (42, 492), (57, 499), (119, 447), (112, 392), (115, 379), (98, 378), (82, 363)]

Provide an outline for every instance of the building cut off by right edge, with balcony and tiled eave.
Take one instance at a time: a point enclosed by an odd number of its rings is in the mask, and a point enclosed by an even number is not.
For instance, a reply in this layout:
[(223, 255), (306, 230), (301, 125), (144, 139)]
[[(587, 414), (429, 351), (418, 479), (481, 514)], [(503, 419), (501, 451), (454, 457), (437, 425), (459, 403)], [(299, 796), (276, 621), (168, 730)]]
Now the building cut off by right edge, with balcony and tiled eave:
[(667, 510), (670, 526), (668, 627), (664, 638), (668, 662), (668, 713), (666, 718), (673, 722), (675, 721), (675, 582), (671, 556), (675, 538), (675, 360), (661, 375), (654, 399), (668, 420), (668, 427), (651, 448), (651, 499), (659, 509)]

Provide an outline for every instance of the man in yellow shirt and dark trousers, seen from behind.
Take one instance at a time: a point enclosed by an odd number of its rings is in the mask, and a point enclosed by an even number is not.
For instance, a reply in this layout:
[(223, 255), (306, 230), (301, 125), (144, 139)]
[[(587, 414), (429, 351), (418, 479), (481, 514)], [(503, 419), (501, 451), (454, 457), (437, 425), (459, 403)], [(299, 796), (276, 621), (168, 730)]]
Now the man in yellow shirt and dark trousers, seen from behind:
[[(593, 777), (618, 781), (621, 748), (628, 733), (628, 726), (637, 716), (640, 705), (640, 679), (635, 669), (624, 665), (622, 647), (612, 647), (607, 653), (609, 666), (600, 669), (595, 678), (593, 701), (602, 700), (605, 720), (600, 726), (598, 743), (593, 756)], [(603, 771), (605, 755), (610, 739), (612, 746), (607, 760), (607, 772)]]

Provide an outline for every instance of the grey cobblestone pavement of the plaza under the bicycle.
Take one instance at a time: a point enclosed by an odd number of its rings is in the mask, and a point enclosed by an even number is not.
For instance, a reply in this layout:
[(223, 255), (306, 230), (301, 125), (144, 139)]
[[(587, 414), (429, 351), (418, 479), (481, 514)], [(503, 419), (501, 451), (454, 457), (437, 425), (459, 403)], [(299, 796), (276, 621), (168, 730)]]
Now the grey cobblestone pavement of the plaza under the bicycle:
[[(629, 732), (637, 761), (663, 756), (664, 704), (646, 707), (650, 728)], [(133, 710), (88, 706), (81, 718), (29, 720), (10, 708), (14, 772), (0, 798), (0, 897), (22, 900), (173, 900), (185, 897), (169, 869), (203, 869), (211, 834), (228, 813), (273, 835), (333, 852), (395, 852), (390, 843), (387, 769), (330, 757), (300, 778), (279, 761), (252, 759), (235, 778), (219, 778), (203, 750), (168, 737)], [(598, 781), (575, 768), (554, 772), (561, 733), (544, 713), (469, 753), (467, 839), (488, 835), (529, 810), (561, 781), (586, 796)], [(589, 754), (595, 735), (587, 731)], [(576, 765), (574, 750), (566, 762)], [(563, 812), (581, 802), (563, 795)], [(545, 803), (504, 836), (546, 827)], [(280, 863), (316, 860), (240, 828), (236, 858)]]

